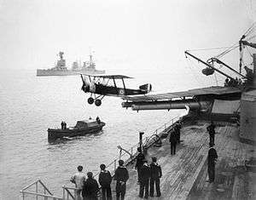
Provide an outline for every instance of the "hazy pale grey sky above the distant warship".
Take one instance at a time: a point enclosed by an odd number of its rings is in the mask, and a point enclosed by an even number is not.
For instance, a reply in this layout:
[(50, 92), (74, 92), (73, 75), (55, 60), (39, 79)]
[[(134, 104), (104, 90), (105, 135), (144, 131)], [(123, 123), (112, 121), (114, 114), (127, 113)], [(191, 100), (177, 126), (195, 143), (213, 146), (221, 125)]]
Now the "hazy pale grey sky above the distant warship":
[(184, 50), (230, 46), (254, 20), (253, 0), (0, 0), (0, 70), (49, 68), (59, 50), (70, 66), (92, 47), (99, 68), (183, 71)]

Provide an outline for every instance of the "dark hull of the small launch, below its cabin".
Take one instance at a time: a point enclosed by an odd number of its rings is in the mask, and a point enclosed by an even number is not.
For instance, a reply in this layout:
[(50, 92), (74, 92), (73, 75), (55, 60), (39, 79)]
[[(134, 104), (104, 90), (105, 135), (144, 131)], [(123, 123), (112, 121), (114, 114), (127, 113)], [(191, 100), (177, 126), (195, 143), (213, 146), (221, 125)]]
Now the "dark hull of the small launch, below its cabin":
[(100, 123), (96, 126), (84, 129), (48, 129), (48, 140), (56, 140), (63, 137), (83, 136), (85, 134), (96, 134), (102, 130), (103, 126), (105, 126), (105, 123)]

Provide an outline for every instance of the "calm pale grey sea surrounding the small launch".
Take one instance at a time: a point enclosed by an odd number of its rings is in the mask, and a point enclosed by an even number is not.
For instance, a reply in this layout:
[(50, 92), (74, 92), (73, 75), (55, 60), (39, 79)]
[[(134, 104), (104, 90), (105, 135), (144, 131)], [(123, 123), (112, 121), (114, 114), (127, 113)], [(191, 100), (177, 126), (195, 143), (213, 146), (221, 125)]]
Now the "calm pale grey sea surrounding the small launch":
[[(61, 186), (72, 186), (68, 180), (78, 165), (85, 172), (98, 172), (101, 163), (118, 157), (117, 146), (133, 146), (139, 131), (152, 134), (181, 112), (126, 110), (114, 97), (105, 98), (100, 107), (88, 105), (77, 76), (36, 77), (35, 71), (2, 71), (0, 76), (1, 199), (18, 199), (19, 191), (38, 179), (61, 195)], [(159, 79), (153, 72), (136, 76), (131, 80), (136, 88), (153, 83), (154, 89), (161, 89), (173, 82), (165, 73)], [(49, 127), (96, 116), (107, 124), (101, 133), (49, 144)]]

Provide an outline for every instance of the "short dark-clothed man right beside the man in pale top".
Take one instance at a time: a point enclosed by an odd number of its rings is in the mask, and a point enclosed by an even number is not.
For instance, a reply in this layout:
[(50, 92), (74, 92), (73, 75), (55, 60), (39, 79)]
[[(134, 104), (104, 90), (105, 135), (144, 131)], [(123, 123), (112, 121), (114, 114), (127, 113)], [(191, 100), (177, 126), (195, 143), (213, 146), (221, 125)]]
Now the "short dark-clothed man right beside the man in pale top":
[(99, 185), (97, 181), (93, 178), (92, 172), (88, 172), (87, 177), (88, 179), (84, 181), (82, 196), (84, 197), (84, 200), (97, 200)]

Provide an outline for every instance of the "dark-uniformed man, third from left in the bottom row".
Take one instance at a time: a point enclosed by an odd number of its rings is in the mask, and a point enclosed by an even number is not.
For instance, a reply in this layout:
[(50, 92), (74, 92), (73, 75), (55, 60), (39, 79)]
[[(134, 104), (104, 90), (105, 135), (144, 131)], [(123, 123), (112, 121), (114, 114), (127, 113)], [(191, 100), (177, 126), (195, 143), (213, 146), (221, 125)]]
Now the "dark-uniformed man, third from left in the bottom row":
[(105, 164), (101, 164), (100, 168), (101, 173), (99, 174), (99, 183), (102, 186), (102, 200), (112, 200), (112, 193), (110, 187), (112, 176), (110, 172), (106, 170)]

